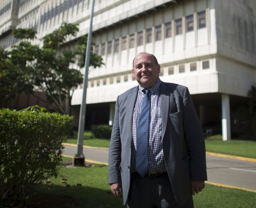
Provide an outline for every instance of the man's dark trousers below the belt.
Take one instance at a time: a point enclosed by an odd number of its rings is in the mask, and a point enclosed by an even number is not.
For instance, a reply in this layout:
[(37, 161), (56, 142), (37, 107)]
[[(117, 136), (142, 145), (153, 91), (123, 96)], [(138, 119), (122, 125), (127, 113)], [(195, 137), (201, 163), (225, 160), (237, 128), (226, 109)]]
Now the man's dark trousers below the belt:
[(180, 206), (175, 200), (168, 175), (142, 178), (137, 173), (131, 175), (128, 208), (194, 208), (193, 198)]

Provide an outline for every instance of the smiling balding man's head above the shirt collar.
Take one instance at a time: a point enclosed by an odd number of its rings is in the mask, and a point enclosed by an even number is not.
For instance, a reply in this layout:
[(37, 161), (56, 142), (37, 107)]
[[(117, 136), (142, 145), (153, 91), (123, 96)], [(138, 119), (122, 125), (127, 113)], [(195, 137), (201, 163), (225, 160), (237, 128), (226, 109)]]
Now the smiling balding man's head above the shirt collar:
[(140, 53), (133, 61), (133, 75), (140, 86), (151, 88), (159, 79), (160, 65), (154, 57), (147, 53)]

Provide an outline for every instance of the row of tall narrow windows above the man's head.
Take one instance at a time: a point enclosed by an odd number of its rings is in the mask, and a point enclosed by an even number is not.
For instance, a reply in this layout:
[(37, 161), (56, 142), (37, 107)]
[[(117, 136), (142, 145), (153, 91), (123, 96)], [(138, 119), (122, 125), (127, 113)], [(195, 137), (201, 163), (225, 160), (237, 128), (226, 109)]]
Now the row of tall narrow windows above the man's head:
[[(206, 27), (206, 17), (205, 17), (205, 11), (198, 12), (197, 13), (197, 28), (205, 28)], [(155, 41), (161, 41), (163, 36), (164, 38), (172, 37), (172, 31), (175, 31), (175, 35), (182, 34), (182, 23), (183, 18), (176, 19), (174, 21), (167, 22), (165, 24), (157, 25), (153, 28), (147, 28), (145, 31), (139, 31), (137, 33), (130, 34), (128, 36), (123, 36), (121, 38), (117, 38), (114, 41), (109, 41), (106, 43), (101, 43), (99, 45), (95, 46), (95, 54), (98, 55), (105, 55), (107, 52), (108, 54), (119, 52), (119, 45), (120, 50), (126, 50), (127, 48), (133, 48), (135, 47), (135, 43), (137, 42), (137, 46), (142, 46), (145, 43), (151, 43), (153, 39), (153, 30), (155, 32), (154, 34), (154, 40)], [(186, 23), (186, 32), (194, 31), (194, 19), (195, 15), (191, 14), (189, 16), (185, 17), (185, 23)], [(173, 26), (174, 24), (174, 26)], [(173, 26), (173, 27), (172, 27)], [(164, 34), (162, 33), (164, 31)], [(114, 48), (114, 49), (113, 49)]]

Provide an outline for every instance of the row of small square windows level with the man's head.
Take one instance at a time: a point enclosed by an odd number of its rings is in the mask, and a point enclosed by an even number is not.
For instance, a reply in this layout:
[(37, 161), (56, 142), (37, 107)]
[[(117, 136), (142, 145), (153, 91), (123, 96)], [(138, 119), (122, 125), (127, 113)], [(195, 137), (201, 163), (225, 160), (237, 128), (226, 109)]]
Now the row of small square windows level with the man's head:
[[(197, 71), (197, 63), (190, 63), (189, 67), (190, 67), (190, 72)], [(175, 74), (175, 69), (174, 68), (175, 68), (174, 66), (169, 67), (167, 75)], [(178, 65), (177, 68), (178, 68), (178, 73), (179, 74), (185, 73), (185, 65)], [(209, 68), (210, 68), (209, 60), (203, 61), (202, 62), (202, 69), (209, 69)], [(163, 69), (161, 69), (161, 72), (160, 72), (159, 76), (160, 77), (164, 76), (164, 70)], [(104, 86), (104, 85), (107, 85), (107, 84), (121, 83), (121, 79), (123, 79), (123, 82), (128, 82), (129, 81), (129, 75), (126, 74), (123, 77), (118, 76), (118, 77), (115, 77), (115, 79), (114, 79), (114, 77), (111, 77), (111, 78), (109, 78), (108, 81), (107, 81), (107, 78), (91, 80), (88, 83), (88, 86), (93, 88), (93, 87), (99, 87), (101, 85)], [(132, 76), (132, 81), (135, 81), (135, 78), (133, 76)]]

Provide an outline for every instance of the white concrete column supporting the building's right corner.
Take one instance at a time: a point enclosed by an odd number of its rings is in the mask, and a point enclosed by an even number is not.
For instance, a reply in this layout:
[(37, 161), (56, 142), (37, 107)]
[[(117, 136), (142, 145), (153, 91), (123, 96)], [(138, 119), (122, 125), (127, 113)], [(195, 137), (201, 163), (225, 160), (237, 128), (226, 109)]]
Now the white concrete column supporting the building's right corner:
[(229, 95), (222, 95), (222, 136), (223, 141), (231, 139)]

